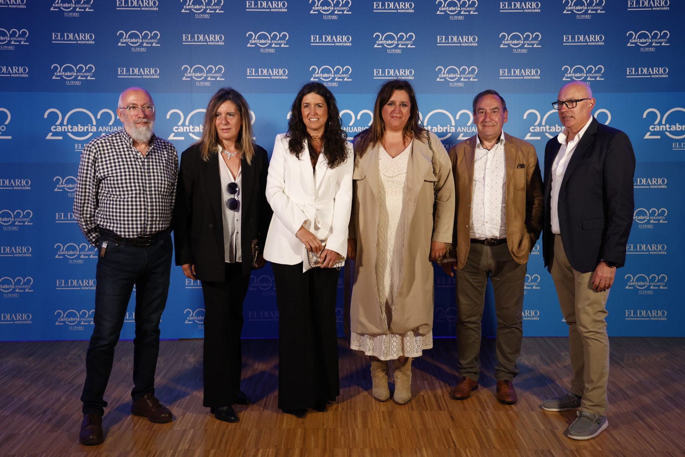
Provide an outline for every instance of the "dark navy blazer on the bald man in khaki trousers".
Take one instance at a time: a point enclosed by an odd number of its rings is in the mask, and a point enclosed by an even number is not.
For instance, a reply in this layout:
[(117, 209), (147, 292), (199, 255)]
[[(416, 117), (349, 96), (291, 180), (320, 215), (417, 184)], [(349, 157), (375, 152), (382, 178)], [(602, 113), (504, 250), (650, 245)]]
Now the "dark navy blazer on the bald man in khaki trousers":
[[(543, 258), (551, 268), (551, 169), (561, 145), (545, 147), (545, 225)], [(559, 223), (564, 251), (573, 269), (594, 271), (600, 260), (625, 264), (625, 245), (633, 222), (635, 153), (621, 130), (594, 119), (580, 139), (559, 191)]]

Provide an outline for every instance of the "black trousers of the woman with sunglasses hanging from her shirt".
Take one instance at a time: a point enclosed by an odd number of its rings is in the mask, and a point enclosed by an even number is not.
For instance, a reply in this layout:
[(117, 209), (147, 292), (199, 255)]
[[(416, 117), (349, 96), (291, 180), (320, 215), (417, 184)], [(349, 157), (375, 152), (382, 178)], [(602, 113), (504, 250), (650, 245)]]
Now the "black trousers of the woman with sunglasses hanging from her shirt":
[(204, 399), (209, 408), (236, 402), (242, 369), (242, 301), (249, 274), (242, 264), (227, 263), (224, 282), (202, 282), (205, 298), (205, 342), (203, 349)]

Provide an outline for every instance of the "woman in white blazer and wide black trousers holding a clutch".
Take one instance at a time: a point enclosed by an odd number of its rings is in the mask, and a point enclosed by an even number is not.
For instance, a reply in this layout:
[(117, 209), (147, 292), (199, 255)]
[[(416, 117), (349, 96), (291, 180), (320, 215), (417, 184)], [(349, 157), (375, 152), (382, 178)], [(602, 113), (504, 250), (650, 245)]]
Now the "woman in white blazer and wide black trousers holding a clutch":
[(279, 310), (278, 407), (297, 417), (325, 411), (340, 394), (334, 267), (347, 253), (352, 169), (335, 97), (323, 84), (305, 84), (273, 146), (264, 246)]

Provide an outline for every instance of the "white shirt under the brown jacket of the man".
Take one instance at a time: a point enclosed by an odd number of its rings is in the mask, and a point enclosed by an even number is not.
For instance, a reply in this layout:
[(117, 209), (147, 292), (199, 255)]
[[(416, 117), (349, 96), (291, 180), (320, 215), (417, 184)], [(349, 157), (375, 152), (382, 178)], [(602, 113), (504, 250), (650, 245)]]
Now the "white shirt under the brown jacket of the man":
[(504, 132), (488, 151), (478, 138), (473, 163), (471, 238), (506, 238)]

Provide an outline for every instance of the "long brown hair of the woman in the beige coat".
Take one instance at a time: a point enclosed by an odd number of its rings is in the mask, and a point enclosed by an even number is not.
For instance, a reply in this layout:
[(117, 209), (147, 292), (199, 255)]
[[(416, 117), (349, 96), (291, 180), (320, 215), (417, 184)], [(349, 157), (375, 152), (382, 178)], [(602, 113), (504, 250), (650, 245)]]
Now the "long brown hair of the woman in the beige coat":
[(354, 142), (354, 151), (358, 156), (363, 156), (369, 147), (381, 143), (385, 135), (385, 123), (383, 122), (382, 110), (390, 97), (393, 96), (395, 90), (403, 90), (409, 95), (409, 119), (402, 129), (402, 136), (406, 140), (408, 138), (422, 138), (427, 135), (427, 130), (421, 125), (419, 117), (419, 103), (416, 103), (416, 94), (414, 88), (409, 82), (404, 79), (393, 79), (381, 86), (376, 97), (376, 103), (373, 105), (373, 121), (371, 127), (364, 130), (357, 135)]

